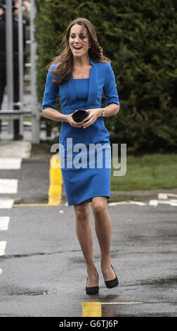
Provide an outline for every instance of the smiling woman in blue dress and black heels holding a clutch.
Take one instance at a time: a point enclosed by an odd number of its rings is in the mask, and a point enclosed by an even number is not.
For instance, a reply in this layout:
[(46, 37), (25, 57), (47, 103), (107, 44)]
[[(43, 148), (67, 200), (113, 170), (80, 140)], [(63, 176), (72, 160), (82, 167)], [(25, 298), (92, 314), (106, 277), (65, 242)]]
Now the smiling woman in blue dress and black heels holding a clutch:
[[(68, 206), (74, 206), (77, 237), (86, 260), (86, 294), (98, 294), (89, 202), (95, 218), (105, 285), (109, 288), (118, 285), (110, 262), (111, 221), (107, 212), (107, 198), (110, 197), (111, 154), (109, 132), (103, 117), (118, 113), (119, 97), (110, 60), (103, 56), (103, 49), (89, 20), (77, 18), (70, 23), (63, 44), (64, 50), (49, 65), (42, 112), (46, 118), (62, 122), (59, 141), (64, 148), (59, 151), (60, 163), (61, 159), (65, 163), (61, 170), (67, 203)], [(105, 108), (101, 108), (103, 92)], [(55, 110), (57, 94), (63, 113)], [(77, 109), (89, 113), (79, 123), (72, 118)], [(68, 149), (69, 138), (72, 148)], [(84, 151), (83, 167), (79, 167), (79, 162), (77, 166), (71, 163), (77, 157), (78, 143)], [(95, 158), (95, 150), (90, 148), (94, 144), (98, 144), (98, 150), (103, 152), (102, 167), (97, 167), (100, 158)]]

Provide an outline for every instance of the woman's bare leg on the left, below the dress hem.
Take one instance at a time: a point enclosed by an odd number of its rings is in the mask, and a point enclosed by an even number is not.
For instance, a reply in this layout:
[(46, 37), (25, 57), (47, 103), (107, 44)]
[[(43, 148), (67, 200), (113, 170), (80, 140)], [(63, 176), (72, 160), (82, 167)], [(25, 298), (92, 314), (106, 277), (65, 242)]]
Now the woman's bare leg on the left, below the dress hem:
[(98, 275), (93, 261), (93, 235), (90, 223), (89, 201), (74, 205), (76, 215), (76, 232), (81, 250), (86, 260), (88, 273), (87, 287), (98, 286)]

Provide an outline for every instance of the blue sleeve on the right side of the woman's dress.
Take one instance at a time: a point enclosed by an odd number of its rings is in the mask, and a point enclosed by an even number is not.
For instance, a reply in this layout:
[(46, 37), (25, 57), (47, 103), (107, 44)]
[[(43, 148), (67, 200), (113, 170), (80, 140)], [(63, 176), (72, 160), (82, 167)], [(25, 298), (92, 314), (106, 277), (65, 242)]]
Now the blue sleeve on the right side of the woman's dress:
[(108, 106), (109, 104), (119, 105), (119, 96), (117, 93), (115, 76), (109, 62), (107, 63), (107, 71), (105, 74), (105, 85), (103, 91), (105, 94), (105, 106)]

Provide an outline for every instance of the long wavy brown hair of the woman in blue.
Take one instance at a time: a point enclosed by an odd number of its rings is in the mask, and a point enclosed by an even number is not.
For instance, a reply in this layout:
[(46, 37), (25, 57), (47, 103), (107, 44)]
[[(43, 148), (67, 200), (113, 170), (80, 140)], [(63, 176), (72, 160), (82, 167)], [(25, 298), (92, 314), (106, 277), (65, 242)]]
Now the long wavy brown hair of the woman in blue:
[(63, 82), (67, 82), (70, 80), (70, 77), (72, 75), (72, 68), (73, 68), (73, 56), (72, 51), (70, 49), (69, 39), (70, 39), (70, 30), (71, 27), (75, 24), (82, 25), (81, 33), (84, 32), (84, 28), (86, 27), (86, 30), (89, 34), (89, 42), (91, 44), (91, 47), (89, 48), (89, 56), (92, 59), (93, 62), (111, 62), (109, 58), (103, 56), (103, 49), (98, 44), (98, 40), (96, 37), (96, 30), (94, 25), (87, 20), (86, 18), (77, 18), (76, 20), (73, 20), (70, 25), (68, 25), (67, 29), (64, 32), (63, 41), (60, 44), (60, 49), (62, 50), (60, 52), (59, 56), (56, 56), (53, 61), (48, 65), (48, 69), (51, 67), (51, 65), (58, 63), (58, 65), (55, 66), (55, 69), (53, 70), (53, 84), (60, 85)]

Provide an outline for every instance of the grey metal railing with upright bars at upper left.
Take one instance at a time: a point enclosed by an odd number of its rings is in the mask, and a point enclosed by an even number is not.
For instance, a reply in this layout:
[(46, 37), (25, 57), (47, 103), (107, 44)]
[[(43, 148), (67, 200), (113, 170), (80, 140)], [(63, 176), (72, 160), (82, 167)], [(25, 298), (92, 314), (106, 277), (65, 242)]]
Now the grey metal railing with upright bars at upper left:
[[(32, 142), (39, 143), (39, 104), (37, 102), (36, 91), (36, 49), (37, 44), (34, 42), (34, 18), (36, 15), (36, 8), (34, 0), (31, 0), (30, 13), (30, 62), (26, 63), (26, 67), (31, 68), (31, 110), (24, 111), (24, 63), (23, 63), (23, 29), (22, 29), (22, 0), (18, 0), (18, 68), (19, 68), (19, 101), (13, 103), (13, 11), (12, 0), (6, 0), (6, 87), (8, 96), (8, 106), (6, 110), (0, 111), (0, 119), (6, 118), (8, 120), (9, 131), (13, 134), (12, 121), (18, 119), (20, 121), (19, 133), (23, 135), (23, 119), (24, 116), (32, 118)], [(14, 110), (14, 106), (19, 107), (19, 110)]]

